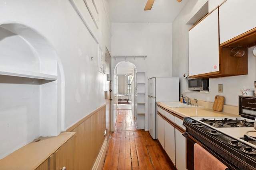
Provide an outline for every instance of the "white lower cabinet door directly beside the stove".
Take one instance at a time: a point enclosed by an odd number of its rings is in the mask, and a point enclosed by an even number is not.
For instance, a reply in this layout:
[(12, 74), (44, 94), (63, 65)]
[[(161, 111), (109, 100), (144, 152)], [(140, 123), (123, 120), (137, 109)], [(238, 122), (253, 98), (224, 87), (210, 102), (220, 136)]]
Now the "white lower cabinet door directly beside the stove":
[(176, 150), (176, 168), (186, 170), (186, 138), (178, 129), (175, 129), (175, 150)]

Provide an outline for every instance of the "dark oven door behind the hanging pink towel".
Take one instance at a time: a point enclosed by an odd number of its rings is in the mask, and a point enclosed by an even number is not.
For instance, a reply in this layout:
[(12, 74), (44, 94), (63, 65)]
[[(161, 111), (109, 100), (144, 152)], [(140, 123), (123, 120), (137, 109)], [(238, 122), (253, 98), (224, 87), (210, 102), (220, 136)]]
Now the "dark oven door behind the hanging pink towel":
[(212, 154), (215, 158), (220, 160), (223, 164), (225, 164), (230, 170), (236, 170), (232, 165), (230, 165), (226, 160), (224, 160), (218, 153), (214, 152), (212, 149), (210, 149), (208, 146), (204, 145), (203, 143), (199, 142), (198, 139), (196, 139), (194, 136), (192, 136), (190, 133), (185, 132), (183, 134), (184, 137), (186, 137), (186, 164), (188, 170), (194, 170), (194, 144), (197, 143), (200, 145), (203, 149), (207, 150), (210, 154)]

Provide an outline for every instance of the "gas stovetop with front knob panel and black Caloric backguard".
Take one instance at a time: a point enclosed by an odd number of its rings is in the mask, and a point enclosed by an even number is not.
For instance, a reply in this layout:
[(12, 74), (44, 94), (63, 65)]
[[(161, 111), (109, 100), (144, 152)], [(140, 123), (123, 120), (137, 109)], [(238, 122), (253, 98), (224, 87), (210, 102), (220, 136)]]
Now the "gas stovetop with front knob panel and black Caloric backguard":
[(200, 143), (231, 170), (256, 170), (256, 96), (239, 96), (239, 115), (185, 117), (184, 136), (190, 143)]

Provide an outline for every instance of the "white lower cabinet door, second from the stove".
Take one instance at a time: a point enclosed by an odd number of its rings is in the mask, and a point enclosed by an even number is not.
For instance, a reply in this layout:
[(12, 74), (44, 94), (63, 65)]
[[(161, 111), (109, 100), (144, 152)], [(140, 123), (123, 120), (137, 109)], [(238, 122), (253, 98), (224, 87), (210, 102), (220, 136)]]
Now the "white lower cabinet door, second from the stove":
[(175, 165), (175, 125), (164, 120), (164, 150)]

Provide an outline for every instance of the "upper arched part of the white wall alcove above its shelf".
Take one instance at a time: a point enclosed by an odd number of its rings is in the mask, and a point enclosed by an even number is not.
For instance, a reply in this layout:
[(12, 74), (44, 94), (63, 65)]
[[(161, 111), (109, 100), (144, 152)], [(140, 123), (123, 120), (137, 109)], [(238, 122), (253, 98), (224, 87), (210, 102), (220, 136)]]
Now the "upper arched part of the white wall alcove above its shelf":
[(55, 50), (34, 29), (19, 23), (1, 24), (0, 49), (1, 60), (4, 60), (0, 63), (0, 72), (7, 69), (11, 76), (19, 72), (23, 77), (57, 79)]

